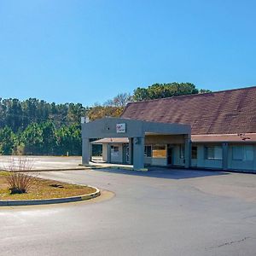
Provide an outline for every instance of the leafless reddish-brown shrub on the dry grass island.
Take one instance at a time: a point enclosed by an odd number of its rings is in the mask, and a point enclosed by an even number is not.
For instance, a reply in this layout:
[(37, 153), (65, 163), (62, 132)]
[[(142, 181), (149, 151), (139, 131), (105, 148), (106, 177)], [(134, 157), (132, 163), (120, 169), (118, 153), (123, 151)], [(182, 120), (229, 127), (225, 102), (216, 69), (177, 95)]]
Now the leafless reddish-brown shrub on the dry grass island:
[(10, 194), (26, 193), (36, 178), (26, 173), (32, 170), (32, 160), (27, 158), (11, 158), (6, 170), (10, 172), (6, 177)]

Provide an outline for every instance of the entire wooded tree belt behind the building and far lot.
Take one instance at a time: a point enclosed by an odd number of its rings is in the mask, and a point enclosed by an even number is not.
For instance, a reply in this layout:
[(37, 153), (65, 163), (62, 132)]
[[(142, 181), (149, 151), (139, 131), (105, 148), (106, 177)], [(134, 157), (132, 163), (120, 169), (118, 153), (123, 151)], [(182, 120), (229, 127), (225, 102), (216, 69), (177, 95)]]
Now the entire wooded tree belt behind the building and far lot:
[(0, 98), (0, 154), (80, 155), (82, 116), (90, 120), (119, 117), (127, 102), (205, 92), (209, 90), (198, 90), (190, 83), (152, 84), (91, 107)]

